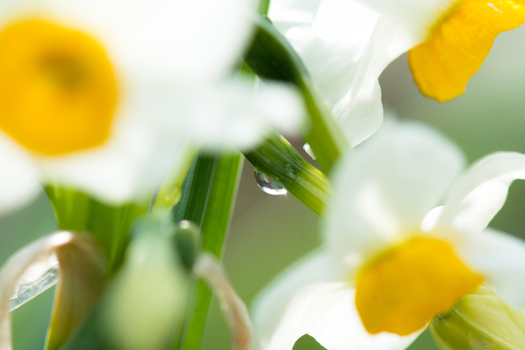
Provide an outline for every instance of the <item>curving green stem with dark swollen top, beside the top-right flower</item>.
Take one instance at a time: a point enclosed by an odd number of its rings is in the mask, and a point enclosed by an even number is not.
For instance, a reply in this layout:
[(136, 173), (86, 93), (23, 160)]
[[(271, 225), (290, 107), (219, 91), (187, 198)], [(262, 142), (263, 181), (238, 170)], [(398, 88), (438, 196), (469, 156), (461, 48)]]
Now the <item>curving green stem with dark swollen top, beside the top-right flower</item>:
[(290, 82), (302, 92), (310, 116), (309, 129), (303, 136), (323, 171), (329, 173), (348, 142), (288, 41), (261, 16), (255, 25), (256, 34), (245, 60), (259, 77)]

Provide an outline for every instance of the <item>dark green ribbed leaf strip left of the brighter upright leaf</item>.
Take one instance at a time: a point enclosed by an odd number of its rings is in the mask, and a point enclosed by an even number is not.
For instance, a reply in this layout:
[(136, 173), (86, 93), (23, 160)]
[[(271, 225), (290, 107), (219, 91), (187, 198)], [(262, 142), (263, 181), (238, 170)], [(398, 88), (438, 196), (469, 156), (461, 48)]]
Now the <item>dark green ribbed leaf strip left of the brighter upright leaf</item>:
[(217, 155), (199, 152), (181, 186), (181, 200), (173, 207), (172, 221), (190, 220), (202, 226), (217, 165)]

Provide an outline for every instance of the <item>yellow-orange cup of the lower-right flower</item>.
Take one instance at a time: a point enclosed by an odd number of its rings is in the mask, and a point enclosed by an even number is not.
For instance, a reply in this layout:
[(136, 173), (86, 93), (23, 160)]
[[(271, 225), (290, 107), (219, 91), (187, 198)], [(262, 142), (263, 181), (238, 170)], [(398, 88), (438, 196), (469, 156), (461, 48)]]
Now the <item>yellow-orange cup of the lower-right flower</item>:
[(358, 275), (355, 304), (369, 333), (408, 335), (481, 282), (448, 243), (413, 238), (366, 264)]

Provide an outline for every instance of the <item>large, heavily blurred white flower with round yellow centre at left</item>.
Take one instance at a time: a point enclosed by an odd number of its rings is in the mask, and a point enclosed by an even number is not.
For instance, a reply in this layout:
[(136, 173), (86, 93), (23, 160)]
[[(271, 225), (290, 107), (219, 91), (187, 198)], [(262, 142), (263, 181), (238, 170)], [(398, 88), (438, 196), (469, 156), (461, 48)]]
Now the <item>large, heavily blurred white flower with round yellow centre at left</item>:
[(0, 210), (24, 203), (37, 182), (121, 204), (158, 186), (185, 142), (246, 147), (261, 125), (295, 125), (295, 94), (227, 79), (251, 5), (3, 1)]

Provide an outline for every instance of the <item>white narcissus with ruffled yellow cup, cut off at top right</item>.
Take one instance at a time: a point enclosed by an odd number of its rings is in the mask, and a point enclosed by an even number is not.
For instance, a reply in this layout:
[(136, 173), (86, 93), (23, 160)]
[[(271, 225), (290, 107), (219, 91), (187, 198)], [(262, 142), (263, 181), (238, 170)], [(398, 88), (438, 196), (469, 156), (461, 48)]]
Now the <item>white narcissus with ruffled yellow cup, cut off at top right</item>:
[(502, 31), (525, 21), (525, 3), (502, 0), (273, 0), (269, 17), (297, 50), (350, 144), (379, 128), (377, 79), (409, 51), (427, 97), (459, 96)]

